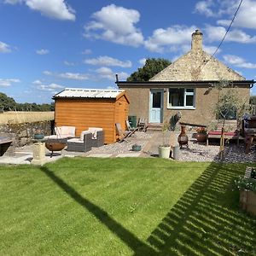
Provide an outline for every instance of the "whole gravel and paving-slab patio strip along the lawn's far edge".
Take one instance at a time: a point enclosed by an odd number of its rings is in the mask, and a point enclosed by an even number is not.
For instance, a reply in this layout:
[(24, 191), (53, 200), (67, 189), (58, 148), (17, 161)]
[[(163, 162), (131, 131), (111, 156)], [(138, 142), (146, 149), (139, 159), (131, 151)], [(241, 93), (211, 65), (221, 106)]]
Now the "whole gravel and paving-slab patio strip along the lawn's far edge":
[[(196, 161), (196, 162), (220, 162), (218, 158), (219, 145), (218, 141), (206, 144), (196, 142), (192, 132), (188, 132), (189, 148), (183, 147), (179, 151), (179, 161)], [(176, 136), (178, 133), (176, 134)], [(122, 143), (113, 143), (104, 145), (100, 148), (92, 148), (90, 152), (70, 152), (63, 149), (61, 152), (55, 152), (50, 158), (50, 152), (46, 150), (46, 161), (58, 160), (63, 156), (74, 157), (158, 157), (158, 145), (162, 141), (161, 131), (137, 131), (131, 137), (128, 137)], [(132, 151), (132, 145), (139, 144), (142, 151)], [(30, 164), (32, 160), (32, 144), (22, 148), (15, 149), (15, 155), (0, 157), (1, 163), (13, 164)], [(171, 159), (170, 159), (171, 160)], [(255, 148), (252, 148), (249, 154), (245, 154), (244, 144), (239, 146), (236, 143), (225, 145), (224, 163), (252, 163), (256, 161)]]

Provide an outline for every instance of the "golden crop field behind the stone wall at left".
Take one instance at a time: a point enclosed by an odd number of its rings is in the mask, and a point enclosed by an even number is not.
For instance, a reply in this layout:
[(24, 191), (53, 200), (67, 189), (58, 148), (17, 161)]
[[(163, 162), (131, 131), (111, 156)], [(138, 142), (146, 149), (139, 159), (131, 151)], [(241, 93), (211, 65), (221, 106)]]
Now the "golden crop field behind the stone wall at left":
[(9, 111), (0, 113), (0, 125), (48, 121), (54, 119), (54, 112)]

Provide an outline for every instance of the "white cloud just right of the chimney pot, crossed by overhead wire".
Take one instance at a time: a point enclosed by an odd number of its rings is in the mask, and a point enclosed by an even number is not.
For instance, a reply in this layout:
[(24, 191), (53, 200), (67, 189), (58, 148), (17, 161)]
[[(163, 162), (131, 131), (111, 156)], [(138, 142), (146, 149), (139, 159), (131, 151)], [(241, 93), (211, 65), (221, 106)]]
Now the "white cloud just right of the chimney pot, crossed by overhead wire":
[[(206, 39), (208, 42), (220, 42), (222, 38), (224, 38), (226, 29), (224, 28), (224, 26), (206, 26), (205, 31)], [(240, 29), (234, 29), (227, 34), (225, 41), (250, 44), (256, 42), (256, 36), (251, 37), (250, 35), (241, 31)]]

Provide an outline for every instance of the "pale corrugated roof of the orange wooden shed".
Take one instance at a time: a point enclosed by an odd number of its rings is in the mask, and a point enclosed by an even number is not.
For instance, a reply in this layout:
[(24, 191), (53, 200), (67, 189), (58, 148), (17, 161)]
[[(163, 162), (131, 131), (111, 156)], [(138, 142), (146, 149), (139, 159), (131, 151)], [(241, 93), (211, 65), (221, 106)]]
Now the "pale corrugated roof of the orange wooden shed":
[(100, 89), (84, 89), (84, 88), (66, 88), (55, 94), (55, 98), (113, 98), (118, 99), (125, 90), (100, 90)]

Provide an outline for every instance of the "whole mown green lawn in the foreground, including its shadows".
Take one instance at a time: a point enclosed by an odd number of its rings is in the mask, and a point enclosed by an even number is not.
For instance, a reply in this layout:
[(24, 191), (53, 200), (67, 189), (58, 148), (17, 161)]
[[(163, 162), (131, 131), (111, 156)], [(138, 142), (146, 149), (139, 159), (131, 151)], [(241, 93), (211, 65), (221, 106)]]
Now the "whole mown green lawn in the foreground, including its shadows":
[(62, 159), (0, 166), (0, 255), (256, 255), (241, 164)]

